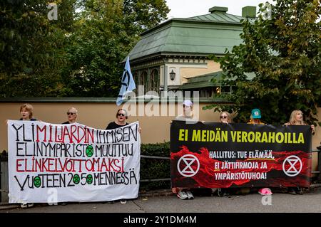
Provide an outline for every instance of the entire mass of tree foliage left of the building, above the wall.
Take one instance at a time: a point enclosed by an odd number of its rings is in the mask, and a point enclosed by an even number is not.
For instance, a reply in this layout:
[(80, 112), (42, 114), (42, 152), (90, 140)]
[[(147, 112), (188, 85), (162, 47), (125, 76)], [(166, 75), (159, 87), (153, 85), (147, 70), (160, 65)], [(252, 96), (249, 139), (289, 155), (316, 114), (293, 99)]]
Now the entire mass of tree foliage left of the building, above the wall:
[(50, 21), (49, 2), (0, 1), (0, 97), (116, 97), (122, 60), (168, 12), (165, 0), (57, 0)]

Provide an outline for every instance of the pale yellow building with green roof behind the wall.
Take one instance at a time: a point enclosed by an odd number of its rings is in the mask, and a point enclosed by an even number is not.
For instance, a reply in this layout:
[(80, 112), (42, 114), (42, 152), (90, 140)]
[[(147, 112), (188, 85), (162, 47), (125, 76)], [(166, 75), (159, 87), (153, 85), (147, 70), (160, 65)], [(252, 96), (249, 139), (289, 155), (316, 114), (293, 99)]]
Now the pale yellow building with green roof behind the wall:
[[(243, 31), (240, 20), (255, 17), (256, 9), (244, 7), (243, 16), (227, 11), (226, 7), (215, 6), (209, 9), (210, 14), (170, 19), (142, 33), (141, 40), (128, 53), (136, 87), (143, 85), (138, 94), (198, 90), (201, 80), (208, 88), (208, 93), (201, 97), (209, 97), (213, 90), (217, 92), (217, 86), (208, 78), (220, 71), (220, 65), (209, 56), (223, 56), (226, 48), (231, 50), (239, 45)], [(198, 80), (198, 85), (194, 80)]]

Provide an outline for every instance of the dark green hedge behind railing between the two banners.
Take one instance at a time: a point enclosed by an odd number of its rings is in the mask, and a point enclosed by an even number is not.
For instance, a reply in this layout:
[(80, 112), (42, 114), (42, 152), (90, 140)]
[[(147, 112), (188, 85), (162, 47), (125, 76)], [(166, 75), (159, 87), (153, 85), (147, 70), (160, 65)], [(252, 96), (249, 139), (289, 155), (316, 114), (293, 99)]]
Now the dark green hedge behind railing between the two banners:
[[(170, 142), (141, 144), (141, 155), (170, 157)], [(141, 179), (170, 178), (169, 159), (141, 158)], [(142, 182), (141, 190), (170, 189), (170, 181)]]

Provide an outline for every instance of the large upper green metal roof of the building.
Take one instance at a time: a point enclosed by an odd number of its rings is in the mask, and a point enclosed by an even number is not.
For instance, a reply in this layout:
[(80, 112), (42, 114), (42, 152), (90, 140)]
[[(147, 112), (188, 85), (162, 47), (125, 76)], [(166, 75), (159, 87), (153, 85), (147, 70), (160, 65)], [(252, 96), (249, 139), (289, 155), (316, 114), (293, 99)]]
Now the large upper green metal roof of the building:
[(225, 48), (230, 50), (242, 42), (240, 19), (244, 19), (226, 14), (225, 9), (213, 7), (211, 14), (165, 21), (142, 33), (128, 56), (135, 60), (168, 54), (224, 55)]

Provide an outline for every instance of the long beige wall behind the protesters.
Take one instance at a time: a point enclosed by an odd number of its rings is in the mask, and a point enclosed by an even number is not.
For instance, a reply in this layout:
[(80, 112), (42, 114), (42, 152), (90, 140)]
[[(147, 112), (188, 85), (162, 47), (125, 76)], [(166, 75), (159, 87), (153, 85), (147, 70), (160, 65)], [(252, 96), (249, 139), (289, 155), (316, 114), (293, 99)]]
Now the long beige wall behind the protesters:
[[(97, 129), (105, 129), (109, 122), (116, 120), (116, 111), (118, 106), (115, 102), (29, 102), (34, 106), (34, 117), (44, 122), (59, 124), (67, 120), (66, 112), (69, 107), (76, 107), (78, 110), (77, 122), (94, 127)], [(8, 150), (8, 134), (6, 120), (19, 120), (20, 118), (20, 105), (23, 102), (0, 102), (0, 152)], [(204, 121), (218, 122), (218, 112), (213, 110), (202, 110), (202, 107), (210, 103), (199, 104), (199, 119)], [(154, 107), (156, 107), (155, 105)], [(165, 110), (166, 109), (166, 110)], [(128, 122), (139, 121), (142, 132), (141, 142), (157, 143), (168, 142), (170, 140), (170, 121), (175, 118), (181, 111), (181, 105), (177, 103), (166, 103), (164, 110), (156, 110), (159, 115), (172, 115), (172, 116), (155, 116), (151, 115), (153, 105), (151, 103), (143, 103), (141, 107), (136, 108), (136, 115), (145, 111), (144, 117), (128, 117)], [(171, 112), (170, 110), (175, 110)], [(163, 112), (162, 112), (163, 111)], [(131, 110), (129, 111), (131, 112)], [(319, 121), (321, 122), (321, 108), (318, 108)], [(148, 116), (150, 115), (150, 116)], [(315, 127), (315, 135), (312, 137), (312, 149), (320, 146), (321, 142), (321, 128)], [(312, 154), (312, 169), (317, 168), (317, 153)]]

